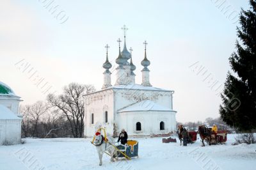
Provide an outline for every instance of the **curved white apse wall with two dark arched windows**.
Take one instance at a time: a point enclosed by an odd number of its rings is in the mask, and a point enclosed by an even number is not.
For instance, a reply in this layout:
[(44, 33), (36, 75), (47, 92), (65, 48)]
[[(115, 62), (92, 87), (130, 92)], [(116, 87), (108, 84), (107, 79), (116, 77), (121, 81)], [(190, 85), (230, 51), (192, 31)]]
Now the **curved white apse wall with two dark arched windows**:
[[(120, 112), (118, 113), (118, 128), (125, 128), (129, 135), (168, 134), (176, 127), (176, 112)], [(160, 123), (164, 122), (164, 130)], [(141, 123), (141, 131), (136, 130), (136, 123)]]

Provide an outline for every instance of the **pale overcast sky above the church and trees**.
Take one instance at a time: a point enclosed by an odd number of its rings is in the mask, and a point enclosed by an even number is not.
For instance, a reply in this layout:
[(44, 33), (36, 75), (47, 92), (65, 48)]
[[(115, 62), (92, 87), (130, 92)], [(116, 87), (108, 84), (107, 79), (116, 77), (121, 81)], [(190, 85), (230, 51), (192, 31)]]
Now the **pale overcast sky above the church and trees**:
[[(115, 65), (125, 24), (136, 83), (147, 40), (151, 84), (175, 91), (177, 121), (217, 118), (241, 8), (247, 10), (248, 2), (1, 0), (0, 81), (22, 97), (22, 105), (61, 93), (70, 82), (100, 89), (104, 46)], [(112, 78), (114, 84), (115, 73)]]

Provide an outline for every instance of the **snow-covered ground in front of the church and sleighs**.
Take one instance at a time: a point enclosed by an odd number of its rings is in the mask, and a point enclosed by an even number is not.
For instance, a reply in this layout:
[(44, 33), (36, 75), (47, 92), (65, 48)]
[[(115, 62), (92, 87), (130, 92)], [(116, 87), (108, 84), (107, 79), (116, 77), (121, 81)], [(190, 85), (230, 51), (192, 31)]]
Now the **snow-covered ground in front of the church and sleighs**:
[(162, 143), (162, 138), (139, 141), (139, 158), (110, 162), (103, 166), (91, 139), (26, 139), (25, 144), (0, 146), (0, 169), (256, 169), (256, 144), (226, 144), (201, 147), (200, 140), (187, 147)]

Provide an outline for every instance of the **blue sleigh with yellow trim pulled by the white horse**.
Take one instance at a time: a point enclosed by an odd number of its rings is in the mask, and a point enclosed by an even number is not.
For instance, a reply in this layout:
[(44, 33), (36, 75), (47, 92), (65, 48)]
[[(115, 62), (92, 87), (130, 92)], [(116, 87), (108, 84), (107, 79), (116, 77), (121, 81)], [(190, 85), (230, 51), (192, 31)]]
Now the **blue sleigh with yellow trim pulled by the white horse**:
[(139, 143), (138, 141), (127, 141), (127, 144), (123, 145), (120, 144), (116, 146), (117, 150), (117, 157), (118, 158), (138, 158), (138, 149), (139, 149)]

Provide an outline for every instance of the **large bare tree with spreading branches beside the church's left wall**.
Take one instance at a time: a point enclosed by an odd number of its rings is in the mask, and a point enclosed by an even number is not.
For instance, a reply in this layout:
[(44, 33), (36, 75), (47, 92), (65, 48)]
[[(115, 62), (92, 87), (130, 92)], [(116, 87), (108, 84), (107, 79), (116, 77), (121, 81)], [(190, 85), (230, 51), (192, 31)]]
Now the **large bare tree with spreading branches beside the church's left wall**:
[(49, 94), (49, 105), (61, 112), (67, 119), (74, 137), (83, 137), (84, 130), (84, 95), (95, 91), (92, 85), (70, 83), (63, 88), (63, 94)]

